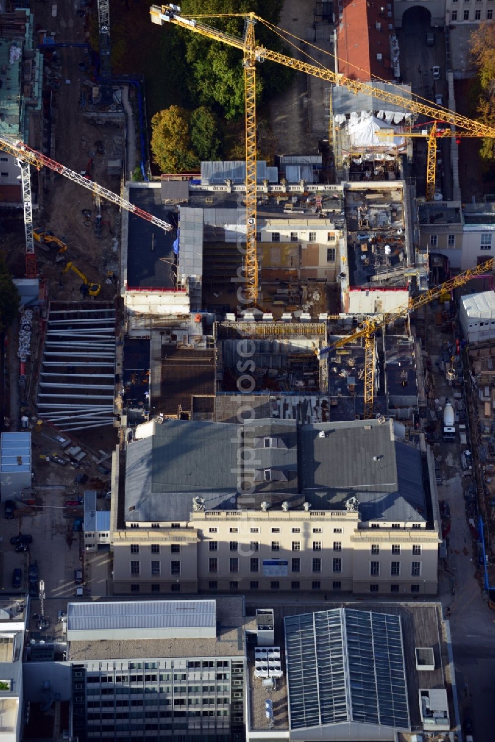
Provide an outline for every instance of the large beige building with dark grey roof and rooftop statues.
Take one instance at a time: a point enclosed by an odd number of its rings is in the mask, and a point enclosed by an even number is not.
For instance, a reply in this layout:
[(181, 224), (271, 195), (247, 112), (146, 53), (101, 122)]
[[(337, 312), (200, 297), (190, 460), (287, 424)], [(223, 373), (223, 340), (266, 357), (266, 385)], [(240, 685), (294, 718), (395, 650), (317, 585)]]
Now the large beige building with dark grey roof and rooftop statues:
[(429, 447), (393, 421), (150, 421), (114, 453), (116, 594), (436, 594)]

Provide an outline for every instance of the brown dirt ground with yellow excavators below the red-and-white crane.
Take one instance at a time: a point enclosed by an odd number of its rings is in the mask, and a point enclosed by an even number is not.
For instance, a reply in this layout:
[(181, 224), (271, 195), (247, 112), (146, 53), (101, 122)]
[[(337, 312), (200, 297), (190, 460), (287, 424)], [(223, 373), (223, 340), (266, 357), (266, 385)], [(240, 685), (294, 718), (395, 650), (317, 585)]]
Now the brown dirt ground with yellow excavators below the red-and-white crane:
[[(34, 8), (36, 29), (55, 32), (56, 42), (87, 42), (89, 13), (96, 13), (96, 4), (86, 9), (85, 17), (76, 15), (76, 4), (69, 0), (60, 1), (56, 7), (56, 17), (52, 17), (52, 5), (36, 3)], [(79, 69), (85, 62), (86, 70)], [(107, 159), (122, 157), (122, 130), (119, 128), (95, 126), (91, 119), (83, 118), (79, 103), (85, 80), (94, 73), (91, 68), (91, 53), (84, 48), (59, 48), (56, 57), (45, 53), (44, 90), (50, 91), (53, 81), (50, 157), (76, 172), (89, 171), (92, 180), (113, 191), (119, 192), (119, 177), (109, 177)], [(58, 87), (59, 86), (59, 87)], [(88, 88), (89, 89), (89, 88)], [(45, 116), (49, 114), (45, 107)], [(123, 119), (122, 119), (123, 124)], [(33, 126), (35, 137), (39, 128)], [(96, 154), (95, 142), (104, 143), (104, 154)], [(42, 142), (36, 141), (36, 148)], [(107, 270), (117, 269), (117, 247), (119, 212), (117, 207), (102, 202), (102, 237), (94, 234), (96, 208), (91, 191), (72, 183), (65, 177), (43, 168), (39, 174), (32, 173), (33, 190), (38, 187), (39, 211), (33, 214), (35, 226), (50, 229), (68, 244), (65, 260), (73, 260), (88, 279), (102, 284), (99, 298), (108, 299), (114, 295), (114, 286), (105, 283)], [(36, 181), (38, 180), (38, 183)], [(91, 218), (85, 218), (83, 209), (91, 211)], [(22, 235), (19, 248), (23, 248)], [(63, 263), (55, 264), (56, 247), (44, 252), (36, 245), (39, 271), (47, 279), (49, 298), (79, 300), (81, 280), (73, 272), (65, 274), (60, 280)], [(17, 266), (16, 266), (17, 267)], [(62, 283), (62, 286), (60, 285)]]

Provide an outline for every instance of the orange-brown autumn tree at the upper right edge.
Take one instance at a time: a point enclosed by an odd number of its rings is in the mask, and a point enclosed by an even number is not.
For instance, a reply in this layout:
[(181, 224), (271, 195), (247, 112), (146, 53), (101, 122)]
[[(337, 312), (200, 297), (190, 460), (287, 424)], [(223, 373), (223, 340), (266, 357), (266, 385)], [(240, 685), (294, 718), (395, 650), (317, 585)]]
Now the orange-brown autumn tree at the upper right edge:
[[(480, 23), (471, 33), (471, 57), (477, 70), (476, 113), (485, 124), (495, 126), (495, 27), (491, 22)], [(483, 139), (479, 151), (485, 160), (495, 157), (495, 139)]]

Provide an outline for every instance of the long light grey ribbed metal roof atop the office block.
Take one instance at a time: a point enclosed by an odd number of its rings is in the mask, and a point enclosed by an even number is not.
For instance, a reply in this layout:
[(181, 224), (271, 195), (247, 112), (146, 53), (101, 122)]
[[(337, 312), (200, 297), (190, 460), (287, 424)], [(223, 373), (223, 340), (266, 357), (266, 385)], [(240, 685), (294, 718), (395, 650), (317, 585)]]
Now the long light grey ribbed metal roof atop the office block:
[[(142, 631), (148, 629), (213, 628), (217, 611), (214, 600), (146, 600), (112, 603), (69, 603), (68, 639), (71, 631)], [(73, 637), (72, 637), (73, 638)], [(129, 635), (130, 639), (131, 636)]]

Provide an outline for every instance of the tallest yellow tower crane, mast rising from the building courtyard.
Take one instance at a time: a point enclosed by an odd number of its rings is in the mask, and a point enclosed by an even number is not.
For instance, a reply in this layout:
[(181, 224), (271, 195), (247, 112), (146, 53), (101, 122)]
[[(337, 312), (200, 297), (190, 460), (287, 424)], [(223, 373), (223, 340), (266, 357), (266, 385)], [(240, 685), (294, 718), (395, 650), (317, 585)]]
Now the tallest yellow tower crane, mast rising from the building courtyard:
[[(306, 74), (327, 80), (334, 85), (344, 85), (353, 93), (367, 93), (373, 98), (398, 105), (406, 111), (441, 119), (455, 125), (457, 128), (476, 133), (475, 135), (478, 137), (495, 137), (495, 128), (468, 119), (466, 116), (461, 116), (453, 111), (448, 111), (447, 108), (440, 108), (433, 103), (423, 102), (412, 96), (408, 97), (406, 93), (393, 93), (390, 91), (390, 87), (387, 90), (375, 88), (371, 83), (353, 80), (325, 67), (311, 65), (300, 59), (294, 59), (286, 56), (286, 54), (257, 45), (255, 41), (255, 23), (257, 21), (266, 24), (267, 27), (276, 30), (277, 33), (278, 29), (264, 21), (260, 16), (256, 16), (255, 13), (229, 14), (229, 17), (244, 18), (243, 38), (232, 36), (230, 33), (208, 26), (198, 19), (183, 16), (180, 7), (175, 4), (152, 5), (150, 13), (151, 22), (159, 26), (163, 26), (165, 23), (175, 24), (194, 33), (199, 33), (201, 36), (206, 36), (208, 39), (235, 47), (243, 53), (244, 83), (246, 85), (246, 298), (255, 305), (258, 303), (259, 281), (256, 247), (256, 62), (264, 62), (265, 59), (270, 62), (278, 62), (292, 70), (300, 70)], [(212, 18), (214, 16), (207, 17)]]

